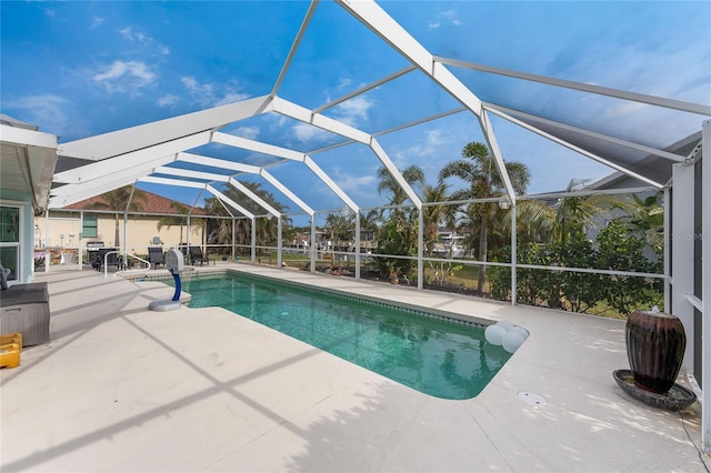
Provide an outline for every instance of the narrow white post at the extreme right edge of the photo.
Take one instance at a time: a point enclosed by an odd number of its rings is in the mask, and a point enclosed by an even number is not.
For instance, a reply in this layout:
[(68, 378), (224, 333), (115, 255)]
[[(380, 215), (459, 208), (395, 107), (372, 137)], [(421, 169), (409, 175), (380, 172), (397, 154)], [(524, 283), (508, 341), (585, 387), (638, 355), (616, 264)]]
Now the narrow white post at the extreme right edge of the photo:
[(701, 209), (701, 306), (703, 321), (701, 340), (701, 443), (703, 444), (703, 453), (711, 453), (711, 120), (703, 122), (701, 134), (701, 182), (705, 185), (701, 187), (702, 209)]

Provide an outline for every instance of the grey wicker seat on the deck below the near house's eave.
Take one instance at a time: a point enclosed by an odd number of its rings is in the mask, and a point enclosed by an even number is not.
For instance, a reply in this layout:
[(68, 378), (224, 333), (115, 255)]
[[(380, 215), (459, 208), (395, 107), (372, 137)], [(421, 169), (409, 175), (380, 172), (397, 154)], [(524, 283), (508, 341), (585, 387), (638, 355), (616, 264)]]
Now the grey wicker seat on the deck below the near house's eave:
[(22, 346), (49, 342), (46, 282), (16, 284), (0, 292), (0, 334), (22, 333)]

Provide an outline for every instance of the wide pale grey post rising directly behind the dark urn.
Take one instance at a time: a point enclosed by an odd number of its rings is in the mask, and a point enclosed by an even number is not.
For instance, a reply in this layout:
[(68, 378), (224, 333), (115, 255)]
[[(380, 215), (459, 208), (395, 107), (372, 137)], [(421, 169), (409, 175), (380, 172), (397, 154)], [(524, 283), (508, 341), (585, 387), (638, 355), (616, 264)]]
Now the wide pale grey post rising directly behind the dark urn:
[(694, 167), (674, 164), (672, 168), (672, 286), (671, 313), (684, 325), (687, 349), (682, 368), (693, 371), (693, 306), (687, 294), (693, 294), (693, 208)]

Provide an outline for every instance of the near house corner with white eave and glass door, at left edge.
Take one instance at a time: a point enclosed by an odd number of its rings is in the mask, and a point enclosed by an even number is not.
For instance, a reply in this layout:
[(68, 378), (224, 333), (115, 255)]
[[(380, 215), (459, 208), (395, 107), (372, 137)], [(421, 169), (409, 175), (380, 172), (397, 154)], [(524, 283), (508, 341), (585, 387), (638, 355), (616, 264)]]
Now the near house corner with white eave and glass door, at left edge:
[(0, 114), (0, 262), (9, 282), (32, 282), (34, 215), (44, 212), (57, 137)]

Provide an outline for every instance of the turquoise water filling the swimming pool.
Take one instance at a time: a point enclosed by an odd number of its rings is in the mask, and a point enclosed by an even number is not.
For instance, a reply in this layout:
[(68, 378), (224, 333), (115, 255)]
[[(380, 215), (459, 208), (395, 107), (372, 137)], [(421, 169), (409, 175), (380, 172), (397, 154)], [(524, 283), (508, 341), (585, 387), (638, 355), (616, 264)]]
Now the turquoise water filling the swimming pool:
[(483, 328), (261, 278), (182, 281), (192, 308), (221, 306), (423, 393), (479, 394), (511, 356)]

